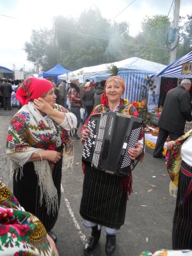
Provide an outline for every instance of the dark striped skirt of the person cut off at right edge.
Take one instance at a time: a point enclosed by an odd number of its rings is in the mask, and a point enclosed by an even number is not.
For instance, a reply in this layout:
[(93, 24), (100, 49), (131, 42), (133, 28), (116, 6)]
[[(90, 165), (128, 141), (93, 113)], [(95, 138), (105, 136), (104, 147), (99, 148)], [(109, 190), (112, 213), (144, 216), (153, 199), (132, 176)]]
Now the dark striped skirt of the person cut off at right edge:
[[(187, 193), (191, 182), (192, 167), (182, 161), (173, 218), (173, 250), (192, 249), (192, 191)], [(188, 196), (186, 196), (187, 194)], [(184, 202), (184, 198), (186, 198), (186, 202)]]

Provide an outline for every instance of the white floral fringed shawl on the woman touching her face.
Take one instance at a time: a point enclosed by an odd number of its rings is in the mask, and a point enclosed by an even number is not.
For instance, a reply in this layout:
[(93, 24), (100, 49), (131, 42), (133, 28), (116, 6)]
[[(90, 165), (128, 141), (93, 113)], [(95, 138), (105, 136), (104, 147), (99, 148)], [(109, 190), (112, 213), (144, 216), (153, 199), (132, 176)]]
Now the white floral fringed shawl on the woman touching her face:
[[(55, 108), (65, 113), (70, 127), (74, 129), (74, 114), (57, 104)], [(13, 116), (6, 140), (6, 152), (12, 163), (11, 175), (16, 172), (17, 177), (19, 169), (22, 173), (22, 166), (27, 163), (34, 152), (40, 154), (41, 149), (56, 150), (57, 136), (60, 136), (64, 145), (63, 168), (72, 166), (72, 140), (65, 129), (61, 128), (53, 120), (52, 124), (53, 127), (47, 123), (44, 116), (40, 114), (32, 102), (24, 105)], [(52, 211), (55, 211), (58, 208), (58, 195), (51, 176), (51, 170), (54, 166), (43, 159), (34, 161), (33, 164), (41, 190), (40, 204), (42, 204), (42, 198), (45, 197), (48, 213), (51, 205), (53, 205)]]

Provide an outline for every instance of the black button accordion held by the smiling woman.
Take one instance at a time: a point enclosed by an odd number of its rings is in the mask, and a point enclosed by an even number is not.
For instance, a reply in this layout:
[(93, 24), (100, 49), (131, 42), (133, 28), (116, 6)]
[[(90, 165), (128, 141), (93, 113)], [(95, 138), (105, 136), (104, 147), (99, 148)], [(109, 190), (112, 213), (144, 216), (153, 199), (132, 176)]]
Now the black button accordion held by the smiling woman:
[(143, 120), (122, 113), (106, 112), (90, 117), (90, 136), (84, 141), (82, 161), (93, 168), (126, 177), (134, 161), (128, 148), (135, 148)]

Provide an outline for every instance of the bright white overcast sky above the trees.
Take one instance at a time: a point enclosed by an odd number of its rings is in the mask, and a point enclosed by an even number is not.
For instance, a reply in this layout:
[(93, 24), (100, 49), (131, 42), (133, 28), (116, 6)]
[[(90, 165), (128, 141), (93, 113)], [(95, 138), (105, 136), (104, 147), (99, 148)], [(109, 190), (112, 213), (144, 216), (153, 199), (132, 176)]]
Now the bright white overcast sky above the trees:
[[(24, 43), (30, 42), (31, 29), (51, 28), (54, 16), (78, 17), (83, 10), (97, 7), (106, 19), (115, 18), (116, 22), (121, 20), (128, 22), (130, 35), (136, 35), (141, 30), (141, 21), (146, 16), (168, 15), (172, 1), (69, 0), (67, 3), (64, 0), (0, 0), (0, 66), (13, 69), (14, 63), (16, 70), (24, 65), (26, 70), (32, 68), (33, 63), (27, 61), (26, 54), (22, 50)], [(127, 7), (129, 4), (130, 6)], [(191, 10), (192, 0), (180, 0), (181, 16), (191, 14)], [(173, 6), (168, 17), (173, 20)]]

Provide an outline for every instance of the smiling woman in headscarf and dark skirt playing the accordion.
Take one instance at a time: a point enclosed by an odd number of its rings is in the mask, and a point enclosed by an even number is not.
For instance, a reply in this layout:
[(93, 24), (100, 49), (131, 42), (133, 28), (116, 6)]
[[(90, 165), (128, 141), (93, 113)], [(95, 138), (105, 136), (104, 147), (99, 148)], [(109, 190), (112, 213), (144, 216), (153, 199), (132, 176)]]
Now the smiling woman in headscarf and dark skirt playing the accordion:
[[(101, 104), (96, 106), (91, 115), (113, 111), (127, 115), (137, 116), (138, 111), (131, 104), (121, 98), (125, 92), (124, 80), (120, 77), (109, 77), (104, 86)], [(91, 116), (90, 115), (90, 116)], [(90, 135), (86, 124), (82, 129), (82, 141)], [(116, 131), (118, 132), (118, 131)], [(131, 159), (139, 157), (143, 151), (142, 135), (136, 143), (136, 148), (129, 148)], [(84, 245), (86, 252), (92, 250), (100, 238), (101, 226), (106, 227), (106, 254), (112, 255), (115, 251), (116, 234), (124, 224), (127, 197), (132, 191), (131, 175), (122, 178), (106, 172), (95, 170), (92, 166), (83, 164), (84, 182), (81, 199), (80, 214), (85, 227), (92, 227), (92, 236)]]

